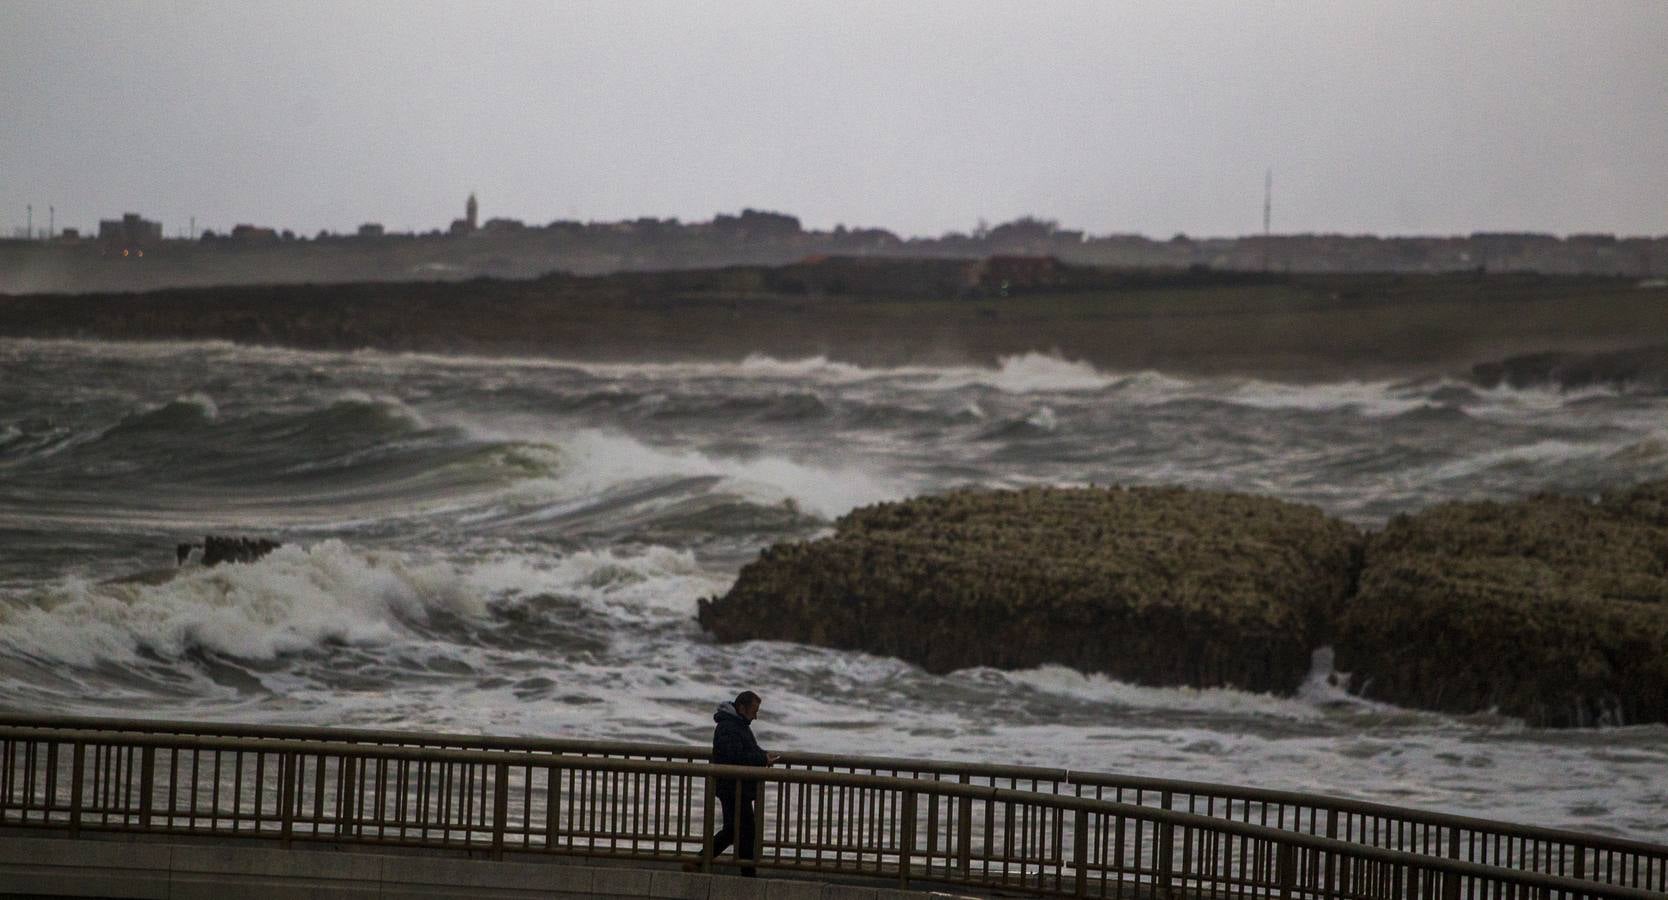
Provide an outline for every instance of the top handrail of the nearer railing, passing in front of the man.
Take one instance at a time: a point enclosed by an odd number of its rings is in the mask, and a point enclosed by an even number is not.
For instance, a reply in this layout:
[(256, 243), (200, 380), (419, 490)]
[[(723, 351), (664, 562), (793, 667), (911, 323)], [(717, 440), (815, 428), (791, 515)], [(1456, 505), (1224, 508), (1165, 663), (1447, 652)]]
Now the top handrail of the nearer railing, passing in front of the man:
[[(355, 757), (355, 758), (409, 760), (409, 762), (450, 762), (450, 763), (479, 763), (494, 767), (580, 768), (592, 772), (686, 775), (704, 780), (729, 778), (729, 780), (756, 780), (756, 782), (776, 782), (776, 783), (866, 787), (866, 788), (896, 790), (901, 793), (912, 792), (917, 795), (929, 793), (941, 797), (966, 797), (966, 798), (977, 798), (999, 803), (1027, 803), (1036, 807), (1054, 807), (1074, 812), (1083, 810), (1104, 815), (1116, 815), (1131, 820), (1146, 820), (1153, 823), (1181, 825), (1186, 828), (1196, 828), (1203, 832), (1241, 835), (1254, 840), (1264, 840), (1274, 845), (1299, 847), (1299, 848), (1316, 850), (1321, 853), (1378, 860), (1406, 867), (1419, 867), (1424, 870), (1444, 872), (1453, 875), (1470, 875), (1496, 882), (1510, 882), (1521, 887), (1558, 890), (1578, 897), (1610, 897), (1616, 900), (1663, 900), (1665, 897), (1668, 897), (1665, 893), (1643, 888), (1588, 882), (1581, 878), (1568, 878), (1541, 872), (1503, 868), (1503, 867), (1473, 863), (1465, 860), (1451, 860), (1444, 857), (1431, 857), (1423, 853), (1409, 853), (1404, 850), (1361, 845), (1321, 835), (1291, 832), (1286, 828), (1271, 828), (1266, 825), (1234, 822), (1209, 815), (1189, 813), (1183, 810), (1169, 810), (1169, 808), (1148, 807), (1138, 803), (1121, 803), (1116, 800), (1096, 800), (1093, 797), (1026, 792), (1012, 788), (997, 788), (989, 785), (967, 785), (959, 782), (942, 782), (937, 778), (902, 778), (892, 775), (856, 775), (846, 772), (762, 768), (762, 767), (746, 767), (746, 765), (691, 763), (691, 762), (674, 762), (674, 760), (631, 760), (615, 757), (517, 753), (517, 752), (494, 752), (494, 750), (449, 750), (449, 748), (432, 748), (432, 747), (397, 747), (397, 745), (372, 745), (372, 743), (324, 742), (324, 740), (165, 735), (165, 733), (140, 733), (140, 732), (120, 732), (120, 730), (110, 732), (110, 730), (88, 730), (88, 728), (30, 728), (15, 725), (0, 725), (0, 740), (68, 743), (77, 747), (85, 747), (85, 745), (137, 747), (137, 748), (152, 747), (152, 748), (170, 748), (170, 750), (217, 750), (217, 752), (277, 753), (277, 755), (295, 753), (295, 755), (317, 755), (317, 757)], [(77, 750), (77, 758), (78, 755), (80, 750)]]

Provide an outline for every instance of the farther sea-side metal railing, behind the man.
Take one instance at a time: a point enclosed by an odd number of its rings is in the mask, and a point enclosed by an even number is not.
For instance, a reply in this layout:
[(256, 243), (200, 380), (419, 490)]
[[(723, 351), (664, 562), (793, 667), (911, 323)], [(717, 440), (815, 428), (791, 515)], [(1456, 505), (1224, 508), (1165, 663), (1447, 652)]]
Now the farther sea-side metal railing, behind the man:
[[(661, 762), (706, 762), (711, 758), (709, 748), (691, 745), (309, 725), (28, 717), (17, 713), (0, 713), (0, 725), (264, 740), (327, 740), (372, 747), (485, 750)], [(779, 765), (802, 772), (886, 775), (1108, 800), (1334, 838), (1359, 847), (1441, 857), (1605, 885), (1635, 887), (1658, 893), (1668, 892), (1668, 847), (1663, 845), (1384, 803), (1139, 775), (889, 757), (784, 752)]]

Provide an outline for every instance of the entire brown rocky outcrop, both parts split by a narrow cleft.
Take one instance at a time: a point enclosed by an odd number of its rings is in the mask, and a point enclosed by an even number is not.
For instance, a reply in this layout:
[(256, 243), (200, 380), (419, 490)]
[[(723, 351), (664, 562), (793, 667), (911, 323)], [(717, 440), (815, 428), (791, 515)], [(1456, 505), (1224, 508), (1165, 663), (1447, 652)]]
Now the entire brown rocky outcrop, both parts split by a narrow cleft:
[(1369, 537), (1181, 488), (957, 492), (849, 513), (702, 600), (719, 640), (931, 672), (1061, 663), (1289, 692), (1334, 643), (1358, 693), (1531, 725), (1668, 722), (1668, 482), (1446, 503)]

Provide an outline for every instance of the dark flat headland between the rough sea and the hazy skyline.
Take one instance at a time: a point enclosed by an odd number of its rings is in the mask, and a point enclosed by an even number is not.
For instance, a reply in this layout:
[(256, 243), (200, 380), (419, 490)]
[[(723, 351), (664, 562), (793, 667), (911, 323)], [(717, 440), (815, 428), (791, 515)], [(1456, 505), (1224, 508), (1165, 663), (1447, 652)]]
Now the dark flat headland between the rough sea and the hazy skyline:
[[(857, 275), (856, 278), (852, 275)], [(1049, 283), (954, 283), (941, 260), (0, 295), (0, 337), (230, 340), (589, 362), (822, 355), (994, 365), (1026, 352), (1103, 370), (1386, 378), (1668, 335), (1668, 290), (1556, 275), (1253, 275), (1068, 267)]]

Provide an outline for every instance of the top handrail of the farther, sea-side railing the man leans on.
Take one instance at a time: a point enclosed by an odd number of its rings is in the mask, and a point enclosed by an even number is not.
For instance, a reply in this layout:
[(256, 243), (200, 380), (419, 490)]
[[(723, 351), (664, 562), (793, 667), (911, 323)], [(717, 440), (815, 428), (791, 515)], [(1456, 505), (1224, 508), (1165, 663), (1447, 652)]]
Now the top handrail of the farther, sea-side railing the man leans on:
[[(447, 732), (405, 732), (390, 728), (342, 728), (334, 725), (257, 725), (234, 722), (188, 722), (188, 720), (147, 720), (115, 717), (77, 717), (77, 715), (23, 715), (0, 713), (0, 727), (38, 725), (47, 728), (70, 730), (107, 730), (125, 733), (167, 733), (167, 735), (225, 735), (249, 737), (260, 740), (327, 740), (379, 747), (444, 747), (444, 748), (479, 748), (492, 752), (524, 753), (562, 753), (562, 755), (631, 755), (631, 757), (681, 757), (711, 758), (712, 750), (701, 745), (647, 743), (647, 742), (614, 742), (584, 738), (539, 738), (509, 735), (462, 735)], [(839, 753), (782, 752), (781, 762), (786, 765), (821, 765), (831, 768), (872, 768), (894, 772), (921, 772), (936, 775), (977, 775), (994, 778), (1021, 778), (1039, 782), (1059, 782), (1083, 787), (1118, 787), (1151, 792), (1216, 795), (1226, 800), (1273, 802), (1313, 807), (1318, 810), (1336, 810), (1361, 815), (1399, 818), (1416, 825), (1436, 825), (1483, 832), (1491, 835), (1551, 840), (1578, 847), (1583, 850), (1616, 850), (1645, 853), (1668, 858), (1668, 845), (1651, 843), (1636, 838), (1611, 835), (1593, 835), (1568, 828), (1551, 828), (1545, 825), (1523, 825), (1495, 818), (1468, 817), (1414, 807), (1396, 807), (1371, 800), (1353, 800), (1324, 793), (1303, 793), (1293, 790), (1256, 788), (1228, 785), (1216, 782), (1189, 782), (1178, 778), (1158, 778), (1149, 775), (1118, 775), (1106, 772), (1083, 772), (1074, 768), (1049, 768), (1006, 763), (971, 763), (922, 760), (906, 757), (846, 757)]]

